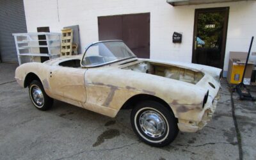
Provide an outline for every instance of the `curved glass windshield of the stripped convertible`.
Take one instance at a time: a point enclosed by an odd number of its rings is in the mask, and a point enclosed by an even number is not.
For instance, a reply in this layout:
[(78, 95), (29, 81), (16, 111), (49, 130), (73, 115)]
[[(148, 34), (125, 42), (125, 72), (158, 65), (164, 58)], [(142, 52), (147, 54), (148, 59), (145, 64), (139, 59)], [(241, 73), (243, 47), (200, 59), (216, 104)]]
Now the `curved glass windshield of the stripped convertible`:
[(122, 41), (105, 41), (90, 45), (84, 52), (82, 65), (93, 67), (136, 57)]

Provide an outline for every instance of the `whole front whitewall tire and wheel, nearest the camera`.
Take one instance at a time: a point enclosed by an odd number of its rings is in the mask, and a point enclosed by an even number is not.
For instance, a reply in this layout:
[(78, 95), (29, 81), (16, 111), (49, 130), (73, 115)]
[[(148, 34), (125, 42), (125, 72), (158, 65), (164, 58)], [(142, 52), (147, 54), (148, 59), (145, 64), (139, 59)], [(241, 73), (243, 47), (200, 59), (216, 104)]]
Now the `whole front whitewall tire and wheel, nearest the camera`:
[(131, 124), (137, 136), (154, 147), (169, 145), (179, 132), (172, 111), (151, 100), (140, 102), (132, 109)]

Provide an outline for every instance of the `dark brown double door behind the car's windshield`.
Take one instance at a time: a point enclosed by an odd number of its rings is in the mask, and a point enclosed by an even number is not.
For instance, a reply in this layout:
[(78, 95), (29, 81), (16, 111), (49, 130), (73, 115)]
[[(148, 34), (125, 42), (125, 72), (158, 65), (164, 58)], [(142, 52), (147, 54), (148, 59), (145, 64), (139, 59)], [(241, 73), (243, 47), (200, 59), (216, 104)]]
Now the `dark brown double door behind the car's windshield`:
[(124, 40), (138, 56), (150, 57), (150, 13), (98, 17), (99, 40)]

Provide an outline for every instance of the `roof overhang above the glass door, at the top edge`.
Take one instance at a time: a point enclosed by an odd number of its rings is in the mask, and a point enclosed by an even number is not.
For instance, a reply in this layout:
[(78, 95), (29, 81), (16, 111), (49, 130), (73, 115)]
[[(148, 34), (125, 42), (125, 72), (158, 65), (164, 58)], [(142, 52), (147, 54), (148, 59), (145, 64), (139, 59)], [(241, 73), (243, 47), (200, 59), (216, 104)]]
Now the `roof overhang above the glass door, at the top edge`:
[(224, 3), (224, 2), (236, 2), (236, 1), (255, 1), (255, 0), (166, 0), (166, 2), (171, 4), (172, 6)]

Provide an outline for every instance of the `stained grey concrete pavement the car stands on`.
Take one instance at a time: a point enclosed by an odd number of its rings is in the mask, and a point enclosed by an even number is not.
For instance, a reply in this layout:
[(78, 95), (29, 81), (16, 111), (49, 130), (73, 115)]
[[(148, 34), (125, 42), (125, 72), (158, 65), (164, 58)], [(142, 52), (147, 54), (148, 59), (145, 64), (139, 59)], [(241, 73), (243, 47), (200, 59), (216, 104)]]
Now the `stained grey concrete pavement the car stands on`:
[[(237, 93), (231, 99), (225, 79), (221, 81), (223, 89), (216, 113), (202, 131), (179, 132), (168, 147), (154, 148), (138, 140), (132, 131), (130, 111), (108, 118), (57, 100), (51, 110), (39, 111), (31, 103), (28, 89), (15, 82), (16, 67), (0, 63), (0, 159), (256, 157), (256, 103), (237, 99)], [(251, 89), (256, 96), (256, 87)]]

